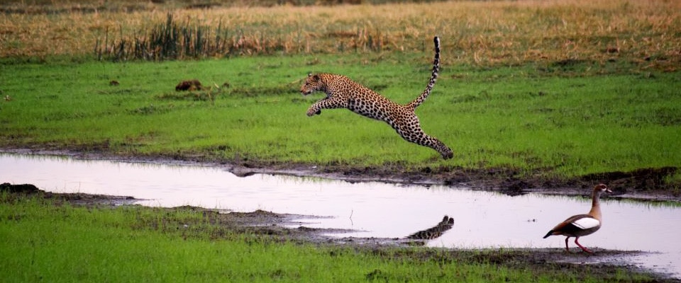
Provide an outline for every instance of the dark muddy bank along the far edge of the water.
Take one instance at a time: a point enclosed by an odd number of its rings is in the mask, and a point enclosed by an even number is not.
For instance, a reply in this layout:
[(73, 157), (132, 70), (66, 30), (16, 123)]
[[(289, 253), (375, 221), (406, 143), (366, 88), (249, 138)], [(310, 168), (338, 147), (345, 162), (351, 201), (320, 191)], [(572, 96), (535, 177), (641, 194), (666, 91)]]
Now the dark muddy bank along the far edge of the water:
[(0, 149), (14, 154), (45, 154), (70, 156), (79, 159), (111, 160), (143, 163), (185, 164), (224, 168), (240, 177), (262, 174), (294, 175), (331, 178), (348, 182), (378, 181), (414, 185), (445, 185), (470, 187), (473, 190), (502, 192), (506, 195), (523, 195), (529, 192), (546, 195), (581, 195), (588, 197), (591, 188), (604, 183), (613, 190), (609, 197), (643, 200), (681, 202), (679, 184), (668, 184), (665, 178), (680, 168), (642, 168), (631, 172), (609, 172), (583, 175), (578, 178), (560, 179), (536, 174), (520, 173), (507, 168), (406, 168), (399, 164), (380, 167), (317, 166), (300, 163), (268, 163), (258, 161), (210, 161), (204, 156), (118, 156), (103, 151), (65, 151), (45, 149)]

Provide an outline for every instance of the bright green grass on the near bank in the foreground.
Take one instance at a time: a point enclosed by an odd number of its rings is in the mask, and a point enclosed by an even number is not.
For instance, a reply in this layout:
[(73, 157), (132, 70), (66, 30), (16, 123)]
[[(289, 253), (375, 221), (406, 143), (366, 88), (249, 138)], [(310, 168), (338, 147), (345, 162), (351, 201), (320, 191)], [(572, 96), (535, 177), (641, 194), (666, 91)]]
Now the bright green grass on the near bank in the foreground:
[[(3, 282), (646, 282), (624, 269), (508, 267), (504, 251), (353, 248), (237, 232), (189, 208), (0, 195)], [(477, 260), (475, 260), (477, 258)], [(487, 258), (487, 260), (485, 260)], [(504, 261), (502, 260), (502, 263)], [(603, 268), (603, 267), (599, 267)]]

